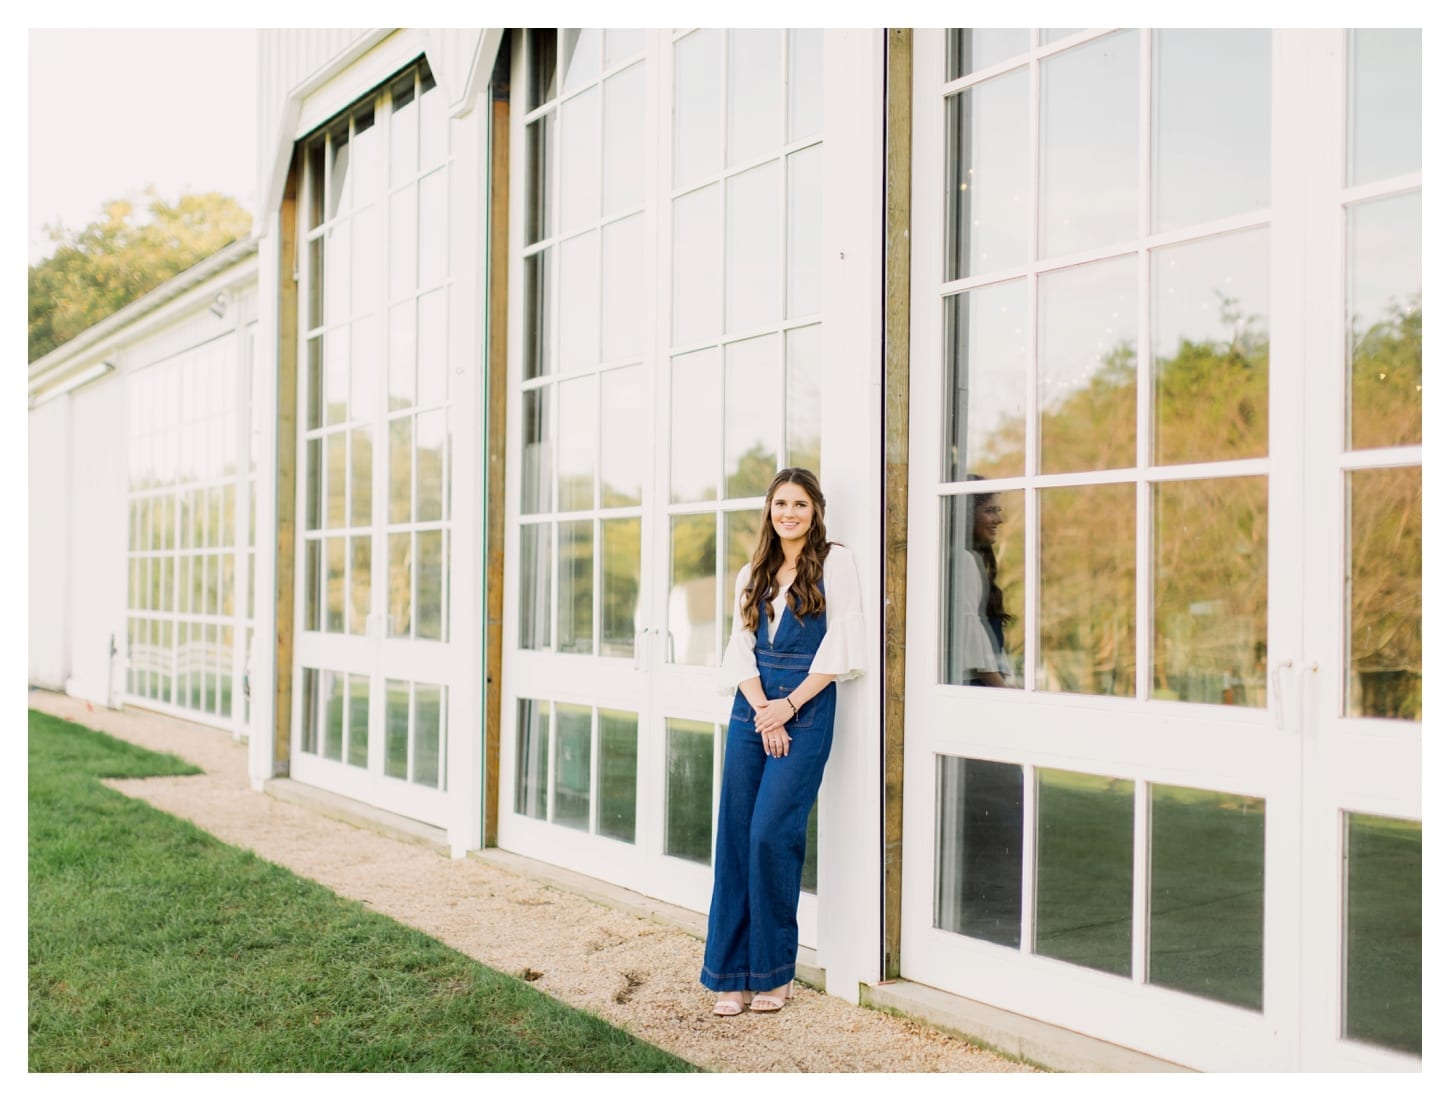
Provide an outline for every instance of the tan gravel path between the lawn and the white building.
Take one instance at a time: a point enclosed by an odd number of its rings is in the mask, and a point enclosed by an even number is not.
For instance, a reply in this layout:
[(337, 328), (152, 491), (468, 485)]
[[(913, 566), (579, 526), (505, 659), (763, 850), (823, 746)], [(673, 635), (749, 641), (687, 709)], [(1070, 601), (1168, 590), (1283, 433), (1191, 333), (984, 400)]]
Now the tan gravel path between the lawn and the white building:
[(783, 1013), (716, 1018), (697, 982), (700, 941), (683, 930), (254, 792), (245, 747), (220, 731), (139, 711), (88, 709), (48, 692), (32, 690), (29, 702), (204, 769), (113, 782), (117, 791), (710, 1071), (1031, 1071), (799, 985)]

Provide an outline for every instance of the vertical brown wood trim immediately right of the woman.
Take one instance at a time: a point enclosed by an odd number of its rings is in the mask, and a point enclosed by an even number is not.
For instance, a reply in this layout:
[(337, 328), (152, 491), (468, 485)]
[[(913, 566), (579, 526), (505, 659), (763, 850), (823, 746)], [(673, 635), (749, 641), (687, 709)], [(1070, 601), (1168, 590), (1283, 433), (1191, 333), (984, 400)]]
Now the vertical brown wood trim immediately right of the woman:
[(883, 250), (884, 547), (886, 637), (882, 730), (882, 976), (900, 975), (902, 782), (906, 702), (906, 474), (911, 382), (911, 75), (912, 32), (886, 32), (886, 247)]

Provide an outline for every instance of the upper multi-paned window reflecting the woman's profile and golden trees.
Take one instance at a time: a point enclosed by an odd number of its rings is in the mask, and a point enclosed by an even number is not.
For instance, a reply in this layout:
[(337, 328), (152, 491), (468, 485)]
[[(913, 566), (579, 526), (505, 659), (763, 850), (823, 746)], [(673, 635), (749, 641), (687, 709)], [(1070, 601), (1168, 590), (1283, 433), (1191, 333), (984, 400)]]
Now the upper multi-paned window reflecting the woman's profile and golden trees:
[(1035, 38), (948, 35), (940, 679), (1264, 706), (1270, 32)]

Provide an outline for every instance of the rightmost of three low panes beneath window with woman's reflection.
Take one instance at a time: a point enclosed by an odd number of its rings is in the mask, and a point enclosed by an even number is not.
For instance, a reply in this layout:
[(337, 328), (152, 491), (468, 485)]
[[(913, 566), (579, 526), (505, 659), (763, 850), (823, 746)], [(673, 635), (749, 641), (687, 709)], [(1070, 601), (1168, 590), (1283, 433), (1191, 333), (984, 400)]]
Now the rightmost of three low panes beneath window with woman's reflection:
[(1262, 1010), (1264, 801), (1150, 785), (1148, 982)]

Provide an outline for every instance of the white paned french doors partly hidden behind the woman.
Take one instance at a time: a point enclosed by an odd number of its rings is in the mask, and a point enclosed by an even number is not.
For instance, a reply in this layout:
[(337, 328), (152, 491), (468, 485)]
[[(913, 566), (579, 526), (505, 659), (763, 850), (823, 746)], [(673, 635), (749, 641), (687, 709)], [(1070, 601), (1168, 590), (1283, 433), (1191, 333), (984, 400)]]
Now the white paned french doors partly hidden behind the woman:
[(776, 469), (819, 464), (822, 41), (513, 52), (499, 841), (697, 911), (735, 572)]

